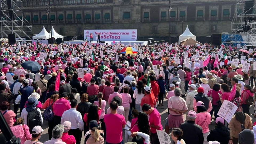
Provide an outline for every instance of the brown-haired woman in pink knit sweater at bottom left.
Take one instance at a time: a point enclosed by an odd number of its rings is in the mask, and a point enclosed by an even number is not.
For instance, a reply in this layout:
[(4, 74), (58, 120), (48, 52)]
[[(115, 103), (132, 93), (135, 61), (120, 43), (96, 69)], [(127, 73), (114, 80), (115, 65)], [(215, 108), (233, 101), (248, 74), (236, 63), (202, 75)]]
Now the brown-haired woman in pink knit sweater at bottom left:
[(29, 127), (24, 124), (23, 118), (18, 118), (10, 129), (13, 135), (21, 139), (21, 144), (25, 143), (27, 139), (32, 139), (32, 135), (29, 133)]

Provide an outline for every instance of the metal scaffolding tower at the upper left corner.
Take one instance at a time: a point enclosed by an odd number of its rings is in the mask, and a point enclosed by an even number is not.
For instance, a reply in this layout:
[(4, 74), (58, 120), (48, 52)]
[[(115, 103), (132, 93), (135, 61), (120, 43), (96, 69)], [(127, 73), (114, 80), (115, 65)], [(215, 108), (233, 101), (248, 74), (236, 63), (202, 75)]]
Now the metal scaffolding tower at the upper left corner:
[(32, 26), (22, 12), (22, 0), (0, 0), (1, 37), (15, 34), (23, 43), (31, 41)]

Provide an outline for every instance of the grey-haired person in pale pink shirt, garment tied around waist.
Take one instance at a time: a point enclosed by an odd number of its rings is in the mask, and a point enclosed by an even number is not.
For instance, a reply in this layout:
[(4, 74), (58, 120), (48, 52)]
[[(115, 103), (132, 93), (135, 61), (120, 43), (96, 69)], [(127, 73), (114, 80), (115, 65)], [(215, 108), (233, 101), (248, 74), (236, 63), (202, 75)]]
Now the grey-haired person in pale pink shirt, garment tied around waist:
[[(170, 114), (168, 115), (168, 126), (167, 129), (179, 127), (184, 122), (183, 113), (186, 113), (187, 104), (186, 101), (181, 97), (182, 91), (180, 88), (175, 88), (174, 96), (168, 100), (168, 109)], [(167, 131), (169, 132), (169, 131)]]

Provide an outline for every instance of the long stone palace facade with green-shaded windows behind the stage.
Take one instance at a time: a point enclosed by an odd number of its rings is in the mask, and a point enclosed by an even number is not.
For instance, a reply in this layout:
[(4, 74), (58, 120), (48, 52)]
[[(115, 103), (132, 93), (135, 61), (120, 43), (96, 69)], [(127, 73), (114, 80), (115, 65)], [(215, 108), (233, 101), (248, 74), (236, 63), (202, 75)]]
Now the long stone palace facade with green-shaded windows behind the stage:
[[(24, 0), (23, 16), (38, 34), (50, 31), (47, 0)], [(189, 26), (196, 36), (229, 33), (236, 1), (173, 0), (50, 0), (54, 29), (64, 36), (79, 36), (84, 29), (137, 29), (138, 36), (178, 36)], [(21, 3), (19, 3), (21, 5)], [(169, 19), (170, 16), (170, 19)], [(182, 29), (183, 27), (183, 29)]]

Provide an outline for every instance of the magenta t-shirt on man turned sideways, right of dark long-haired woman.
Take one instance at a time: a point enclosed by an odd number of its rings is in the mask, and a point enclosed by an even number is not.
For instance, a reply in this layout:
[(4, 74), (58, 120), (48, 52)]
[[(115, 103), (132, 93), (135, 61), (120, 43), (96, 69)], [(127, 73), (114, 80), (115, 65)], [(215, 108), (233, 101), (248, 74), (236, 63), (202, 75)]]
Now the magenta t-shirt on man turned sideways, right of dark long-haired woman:
[[(157, 130), (163, 130), (163, 126), (161, 124), (161, 116), (156, 108), (149, 114), (149, 123), (150, 125), (159, 126)], [(150, 128), (151, 133), (155, 134), (157, 133), (157, 130), (153, 127)]]

